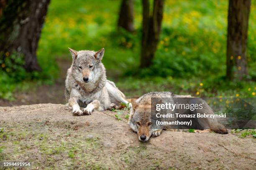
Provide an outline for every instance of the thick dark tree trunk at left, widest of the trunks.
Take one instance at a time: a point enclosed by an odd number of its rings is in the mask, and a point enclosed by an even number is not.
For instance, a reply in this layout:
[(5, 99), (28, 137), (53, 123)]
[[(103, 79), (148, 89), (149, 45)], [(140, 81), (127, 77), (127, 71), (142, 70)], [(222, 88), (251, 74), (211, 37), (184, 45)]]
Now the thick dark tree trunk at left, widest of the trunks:
[(40, 70), (36, 49), (50, 0), (1, 0), (0, 61), (24, 56), (27, 71)]

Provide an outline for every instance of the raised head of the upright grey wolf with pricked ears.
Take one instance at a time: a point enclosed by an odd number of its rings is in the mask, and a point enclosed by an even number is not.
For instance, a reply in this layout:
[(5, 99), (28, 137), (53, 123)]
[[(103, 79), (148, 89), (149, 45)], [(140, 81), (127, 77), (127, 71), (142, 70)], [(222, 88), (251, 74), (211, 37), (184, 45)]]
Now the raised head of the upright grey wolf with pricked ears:
[(105, 73), (105, 67), (101, 60), (104, 55), (104, 48), (95, 52), (89, 50), (76, 51), (69, 48), (72, 55), (72, 75), (77, 82), (95, 83)]

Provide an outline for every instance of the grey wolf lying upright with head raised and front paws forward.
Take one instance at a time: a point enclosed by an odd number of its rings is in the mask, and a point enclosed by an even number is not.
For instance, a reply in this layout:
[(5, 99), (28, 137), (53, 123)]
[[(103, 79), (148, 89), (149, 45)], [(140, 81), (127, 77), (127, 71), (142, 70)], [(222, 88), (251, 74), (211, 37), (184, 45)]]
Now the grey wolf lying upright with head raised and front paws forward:
[[(128, 103), (115, 83), (106, 78), (105, 67), (101, 62), (104, 48), (97, 52), (71, 48), (69, 51), (73, 61), (67, 71), (65, 97), (67, 105), (72, 107), (73, 115), (90, 115), (95, 109), (118, 109), (120, 103)], [(80, 107), (84, 109), (80, 110)]]

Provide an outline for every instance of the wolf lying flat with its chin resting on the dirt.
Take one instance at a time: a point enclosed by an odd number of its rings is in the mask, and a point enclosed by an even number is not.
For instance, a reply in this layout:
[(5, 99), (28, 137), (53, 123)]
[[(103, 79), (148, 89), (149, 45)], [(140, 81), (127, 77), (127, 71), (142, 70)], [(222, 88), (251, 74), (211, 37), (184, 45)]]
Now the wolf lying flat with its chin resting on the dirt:
[[(138, 134), (138, 139), (142, 142), (146, 142), (151, 136), (159, 136), (162, 129), (170, 129), (168, 126), (157, 126), (154, 119), (151, 119), (151, 97), (191, 97), (190, 95), (174, 95), (171, 92), (150, 92), (140, 98), (135, 102), (132, 102), (133, 108), (130, 109), (130, 117), (128, 124), (130, 127)], [(193, 98), (193, 100), (204, 102), (200, 98)], [(206, 102), (204, 102), (206, 103)], [(214, 114), (210, 106), (206, 104), (201, 110), (205, 114)], [(218, 123), (216, 119), (202, 118), (199, 121), (200, 130), (209, 129), (209, 131), (214, 131), (220, 134), (227, 134), (226, 128)]]

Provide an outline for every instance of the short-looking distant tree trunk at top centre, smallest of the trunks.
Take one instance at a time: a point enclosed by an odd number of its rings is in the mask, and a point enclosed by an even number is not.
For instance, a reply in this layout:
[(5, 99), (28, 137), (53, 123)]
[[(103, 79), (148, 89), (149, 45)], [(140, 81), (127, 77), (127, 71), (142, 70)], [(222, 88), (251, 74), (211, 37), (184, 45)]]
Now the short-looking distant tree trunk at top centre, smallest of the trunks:
[(119, 12), (118, 27), (133, 32), (133, 18), (133, 0), (123, 0)]

